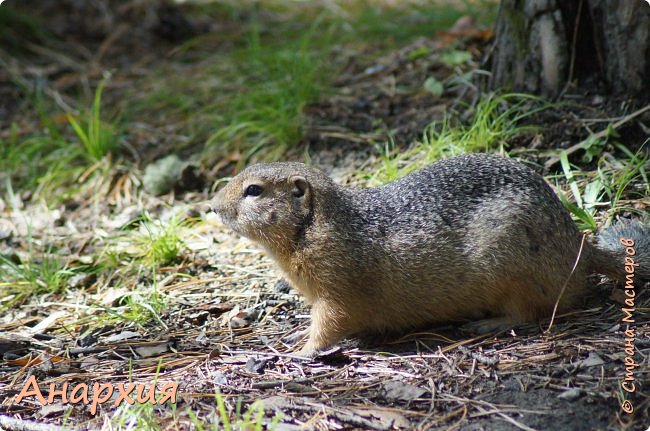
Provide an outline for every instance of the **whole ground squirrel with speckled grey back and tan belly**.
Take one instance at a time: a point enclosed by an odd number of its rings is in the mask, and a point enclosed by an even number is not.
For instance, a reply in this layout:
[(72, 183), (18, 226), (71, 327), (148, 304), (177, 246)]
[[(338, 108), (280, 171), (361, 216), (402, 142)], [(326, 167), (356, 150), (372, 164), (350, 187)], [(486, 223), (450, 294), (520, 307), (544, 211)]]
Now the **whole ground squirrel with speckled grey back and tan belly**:
[(565, 310), (588, 275), (625, 278), (620, 237), (635, 241), (636, 280), (650, 278), (649, 226), (619, 223), (583, 242), (542, 176), (488, 154), (441, 160), (376, 188), (338, 185), (302, 163), (255, 164), (212, 207), (261, 244), (311, 304), (306, 355), (355, 334), (531, 321), (551, 314), (566, 285)]

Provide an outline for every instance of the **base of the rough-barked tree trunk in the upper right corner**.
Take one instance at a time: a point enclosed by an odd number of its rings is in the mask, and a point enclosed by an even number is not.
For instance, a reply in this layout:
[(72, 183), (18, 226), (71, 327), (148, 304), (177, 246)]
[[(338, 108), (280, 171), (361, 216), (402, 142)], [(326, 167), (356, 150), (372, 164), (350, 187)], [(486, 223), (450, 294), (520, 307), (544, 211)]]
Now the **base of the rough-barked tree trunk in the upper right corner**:
[(556, 97), (567, 84), (650, 98), (644, 0), (502, 0), (489, 87)]

